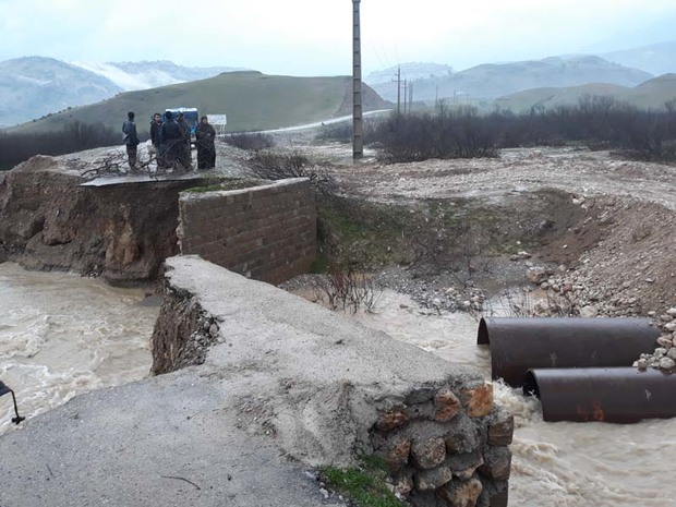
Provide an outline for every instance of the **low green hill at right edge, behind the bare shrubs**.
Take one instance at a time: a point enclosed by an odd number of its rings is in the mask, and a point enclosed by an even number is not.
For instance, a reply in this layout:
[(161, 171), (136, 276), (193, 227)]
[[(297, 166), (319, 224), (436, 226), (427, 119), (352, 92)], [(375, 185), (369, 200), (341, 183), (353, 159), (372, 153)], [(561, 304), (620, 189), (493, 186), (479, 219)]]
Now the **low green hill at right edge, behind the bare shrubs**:
[(494, 104), (499, 109), (523, 112), (533, 107), (551, 109), (557, 106), (577, 105), (581, 97), (589, 95), (614, 97), (640, 108), (663, 109), (666, 101), (676, 99), (676, 74), (664, 74), (635, 87), (594, 83), (531, 88), (505, 95), (497, 98)]

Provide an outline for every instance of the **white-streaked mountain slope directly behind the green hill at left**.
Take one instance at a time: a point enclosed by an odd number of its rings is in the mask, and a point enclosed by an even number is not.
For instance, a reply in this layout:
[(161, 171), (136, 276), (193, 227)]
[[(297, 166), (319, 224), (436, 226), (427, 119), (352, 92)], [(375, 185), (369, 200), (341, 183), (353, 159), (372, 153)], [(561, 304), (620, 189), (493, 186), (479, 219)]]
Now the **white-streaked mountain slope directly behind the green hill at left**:
[(71, 62), (112, 81), (125, 92), (148, 89), (214, 77), (222, 72), (244, 71), (236, 67), (182, 67), (167, 60), (141, 62)]

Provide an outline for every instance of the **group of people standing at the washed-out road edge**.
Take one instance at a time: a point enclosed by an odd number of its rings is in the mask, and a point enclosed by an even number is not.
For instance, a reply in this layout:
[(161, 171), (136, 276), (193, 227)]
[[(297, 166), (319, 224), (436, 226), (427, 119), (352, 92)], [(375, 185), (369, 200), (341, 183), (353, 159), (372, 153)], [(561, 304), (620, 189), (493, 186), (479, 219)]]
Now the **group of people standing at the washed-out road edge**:
[[(134, 121), (134, 112), (126, 113), (126, 121), (122, 124), (123, 141), (126, 146), (126, 156), (130, 169), (136, 169), (138, 134)], [(195, 128), (195, 146), (197, 148), (197, 169), (216, 167), (216, 131), (209, 124), (207, 117), (202, 117)], [(165, 119), (159, 112), (153, 114), (150, 122), (152, 155), (157, 160), (157, 167), (173, 170), (191, 170), (191, 130), (183, 113), (173, 118), (171, 111), (165, 112)]]

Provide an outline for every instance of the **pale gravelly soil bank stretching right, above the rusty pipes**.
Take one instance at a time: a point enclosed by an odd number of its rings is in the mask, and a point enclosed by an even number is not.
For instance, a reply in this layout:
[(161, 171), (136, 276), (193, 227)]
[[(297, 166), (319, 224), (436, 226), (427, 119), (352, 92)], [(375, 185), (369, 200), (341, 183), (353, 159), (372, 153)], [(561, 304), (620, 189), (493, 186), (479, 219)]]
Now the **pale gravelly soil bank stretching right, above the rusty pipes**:
[[(342, 149), (330, 147), (335, 160), (345, 162), (349, 146)], [(514, 255), (494, 257), (492, 273), (471, 280), (488, 293), (529, 285), (528, 269), (542, 266), (536, 285), (567, 293), (586, 315), (661, 315), (676, 305), (675, 166), (580, 148), (521, 148), (493, 159), (384, 165), (367, 158), (336, 165), (331, 173), (343, 192), (372, 202), (415, 209), (415, 203), (449, 200), (497, 210)], [(523, 250), (529, 255), (510, 259)], [(427, 305), (458, 286), (438, 273), (405, 271), (381, 276), (403, 292), (422, 287)]]

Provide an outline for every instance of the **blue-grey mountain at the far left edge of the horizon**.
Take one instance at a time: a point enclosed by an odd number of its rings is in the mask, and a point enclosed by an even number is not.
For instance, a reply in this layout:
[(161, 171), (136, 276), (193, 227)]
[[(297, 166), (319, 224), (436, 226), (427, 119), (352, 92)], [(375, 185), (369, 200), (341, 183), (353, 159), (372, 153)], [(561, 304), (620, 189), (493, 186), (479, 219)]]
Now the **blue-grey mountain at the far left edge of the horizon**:
[(120, 92), (110, 80), (52, 58), (5, 60), (0, 62), (0, 126), (97, 102)]

